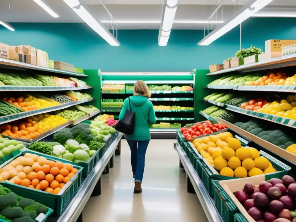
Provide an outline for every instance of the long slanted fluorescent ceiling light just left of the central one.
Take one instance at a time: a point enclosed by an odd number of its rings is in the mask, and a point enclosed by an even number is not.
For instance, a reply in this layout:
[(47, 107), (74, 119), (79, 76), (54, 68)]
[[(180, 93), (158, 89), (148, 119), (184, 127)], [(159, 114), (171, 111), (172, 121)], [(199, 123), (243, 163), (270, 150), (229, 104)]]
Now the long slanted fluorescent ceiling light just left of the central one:
[(73, 11), (96, 33), (104, 38), (111, 46), (119, 46), (117, 39), (110, 31), (99, 21), (97, 21), (78, 0), (63, 0)]

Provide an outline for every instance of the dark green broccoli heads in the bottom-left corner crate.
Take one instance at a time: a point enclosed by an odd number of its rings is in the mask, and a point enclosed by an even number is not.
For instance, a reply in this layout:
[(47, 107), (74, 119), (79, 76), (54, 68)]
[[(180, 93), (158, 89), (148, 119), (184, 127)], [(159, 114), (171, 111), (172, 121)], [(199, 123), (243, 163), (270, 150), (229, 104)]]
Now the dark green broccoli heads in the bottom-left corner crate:
[(23, 198), (7, 187), (0, 185), (0, 219), (8, 222), (34, 222), (39, 214), (46, 215), (49, 209), (34, 200)]

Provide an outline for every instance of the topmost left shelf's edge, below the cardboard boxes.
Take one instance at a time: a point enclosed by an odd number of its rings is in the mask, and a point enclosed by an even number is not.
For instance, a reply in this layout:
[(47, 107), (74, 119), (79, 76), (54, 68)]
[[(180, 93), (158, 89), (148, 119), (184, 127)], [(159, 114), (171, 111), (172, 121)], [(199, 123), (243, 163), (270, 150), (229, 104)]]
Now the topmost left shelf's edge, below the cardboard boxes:
[(59, 73), (59, 74), (63, 74), (63, 75), (71, 75), (71, 76), (87, 76), (81, 73), (73, 73), (73, 72), (68, 72), (68, 71), (63, 71), (63, 70), (58, 70), (58, 69), (50, 69), (50, 68), (45, 68), (45, 67), (41, 67), (38, 65), (31, 65), (28, 63), (24, 63), (24, 62), (17, 62), (11, 59), (4, 59), (4, 58), (0, 58), (0, 66), (4, 65), (4, 67), (7, 68), (7, 66), (9, 68), (15, 68), (15, 69), (19, 69), (19, 68), (23, 68), (23, 69), (29, 69), (29, 70), (39, 70), (39, 71), (44, 71), (44, 72), (49, 72), (49, 73)]

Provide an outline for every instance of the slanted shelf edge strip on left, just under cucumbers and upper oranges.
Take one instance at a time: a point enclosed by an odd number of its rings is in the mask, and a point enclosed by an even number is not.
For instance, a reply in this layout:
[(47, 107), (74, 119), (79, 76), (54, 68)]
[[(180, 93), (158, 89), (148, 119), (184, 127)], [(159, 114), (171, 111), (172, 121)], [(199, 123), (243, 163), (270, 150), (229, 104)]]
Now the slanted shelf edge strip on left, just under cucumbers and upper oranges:
[(62, 110), (62, 109), (65, 109), (65, 108), (69, 108), (71, 106), (75, 106), (75, 105), (78, 105), (78, 104), (90, 102), (90, 101), (93, 101), (93, 100), (95, 100), (95, 99), (83, 99), (83, 100), (80, 100), (80, 101), (68, 102), (68, 103), (64, 103), (64, 104), (61, 104), (61, 105), (46, 107), (46, 108), (42, 108), (42, 109), (38, 109), (38, 110), (31, 110), (31, 111), (27, 111), (27, 112), (18, 112), (18, 113), (7, 115), (7, 116), (1, 116), (0, 117), (0, 123), (1, 124), (9, 123), (9, 122), (19, 120), (19, 119), (22, 119), (22, 118), (25, 118), (25, 117), (33, 116), (33, 115), (38, 115), (38, 114), (42, 114), (42, 113), (46, 113), (46, 112)]

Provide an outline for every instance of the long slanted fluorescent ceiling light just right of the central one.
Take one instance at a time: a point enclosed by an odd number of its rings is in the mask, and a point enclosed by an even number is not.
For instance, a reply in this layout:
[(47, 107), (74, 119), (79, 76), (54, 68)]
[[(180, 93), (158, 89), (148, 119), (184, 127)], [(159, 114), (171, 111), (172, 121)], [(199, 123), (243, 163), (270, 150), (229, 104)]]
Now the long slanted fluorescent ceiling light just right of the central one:
[(273, 0), (250, 0), (237, 13), (223, 23), (220, 27), (213, 30), (210, 34), (205, 36), (199, 43), (200, 46), (207, 46), (216, 39), (223, 36), (225, 33), (248, 19), (250, 16), (258, 12), (260, 9), (271, 3)]

